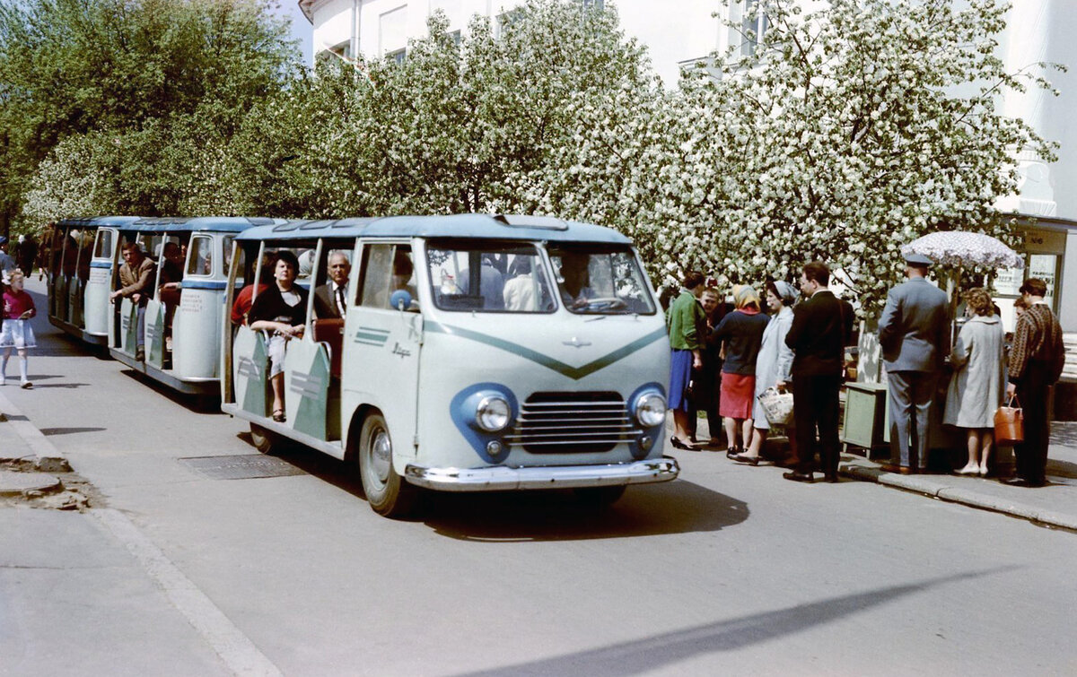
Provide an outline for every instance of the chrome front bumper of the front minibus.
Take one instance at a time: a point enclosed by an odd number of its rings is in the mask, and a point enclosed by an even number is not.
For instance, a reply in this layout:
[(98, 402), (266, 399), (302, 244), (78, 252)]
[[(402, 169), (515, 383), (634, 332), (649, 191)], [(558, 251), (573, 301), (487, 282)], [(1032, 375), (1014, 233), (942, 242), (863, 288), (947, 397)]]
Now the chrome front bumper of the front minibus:
[(676, 479), (681, 467), (670, 456), (634, 463), (509, 468), (425, 468), (408, 465), (404, 479), (439, 491), (505, 491), (646, 484)]

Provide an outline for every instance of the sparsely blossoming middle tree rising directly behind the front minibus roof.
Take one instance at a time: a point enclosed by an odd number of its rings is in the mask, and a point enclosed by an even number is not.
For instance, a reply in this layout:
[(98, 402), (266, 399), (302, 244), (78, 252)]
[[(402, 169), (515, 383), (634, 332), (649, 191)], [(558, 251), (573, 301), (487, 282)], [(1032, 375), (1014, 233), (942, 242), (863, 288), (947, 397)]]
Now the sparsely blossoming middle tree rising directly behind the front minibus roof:
[[(523, 178), (571, 143), (585, 101), (657, 87), (612, 12), (532, 0), (460, 44), (435, 13), (403, 64), (325, 62), (233, 140), (238, 211), (453, 213), (520, 206)], [(495, 34), (500, 33), (500, 34)]]

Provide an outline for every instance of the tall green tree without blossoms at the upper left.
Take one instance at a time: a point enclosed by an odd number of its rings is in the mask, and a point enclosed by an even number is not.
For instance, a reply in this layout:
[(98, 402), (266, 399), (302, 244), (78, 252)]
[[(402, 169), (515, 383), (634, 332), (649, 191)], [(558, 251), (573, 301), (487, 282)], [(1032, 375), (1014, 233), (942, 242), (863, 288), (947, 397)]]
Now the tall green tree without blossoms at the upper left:
[[(183, 189), (176, 179), (198, 171), (191, 151), (199, 147), (199, 137), (229, 136), (255, 101), (293, 77), (298, 53), (286, 40), (286, 25), (272, 16), (274, 6), (268, 0), (0, 3), (3, 211), (9, 217), (17, 213), (39, 163), (80, 135), (87, 139), (56, 154), (47, 168), (54, 177), (56, 160), (85, 159), (94, 150), (104, 154), (93, 159), (95, 166), (136, 180), (113, 194), (121, 201), (110, 211), (174, 209), (174, 193)], [(111, 163), (115, 153), (107, 138), (121, 151)], [(162, 145), (169, 143), (178, 145)], [(155, 147), (164, 156), (162, 167), (153, 167)], [(132, 161), (145, 160), (128, 171)], [(32, 187), (40, 204), (48, 187)], [(42, 209), (28, 215), (47, 211)]]

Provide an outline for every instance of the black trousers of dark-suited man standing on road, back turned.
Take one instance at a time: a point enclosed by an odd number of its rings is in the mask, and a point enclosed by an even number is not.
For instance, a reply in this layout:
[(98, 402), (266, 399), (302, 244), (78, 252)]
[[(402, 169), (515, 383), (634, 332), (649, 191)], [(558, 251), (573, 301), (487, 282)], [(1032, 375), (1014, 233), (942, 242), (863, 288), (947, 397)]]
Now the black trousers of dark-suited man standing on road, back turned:
[(827, 477), (838, 476), (838, 393), (840, 375), (793, 376), (793, 418), (797, 425), (798, 473), (813, 470), (815, 428), (819, 427), (819, 462)]

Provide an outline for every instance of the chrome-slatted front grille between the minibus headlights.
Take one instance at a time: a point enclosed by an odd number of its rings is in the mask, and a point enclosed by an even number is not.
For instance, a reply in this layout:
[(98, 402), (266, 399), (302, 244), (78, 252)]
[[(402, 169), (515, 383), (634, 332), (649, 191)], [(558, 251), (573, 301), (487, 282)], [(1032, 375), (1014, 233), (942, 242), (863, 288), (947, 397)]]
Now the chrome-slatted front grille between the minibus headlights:
[(520, 407), (505, 442), (537, 454), (593, 453), (640, 435), (617, 393), (535, 393)]

